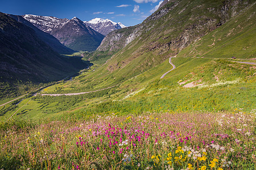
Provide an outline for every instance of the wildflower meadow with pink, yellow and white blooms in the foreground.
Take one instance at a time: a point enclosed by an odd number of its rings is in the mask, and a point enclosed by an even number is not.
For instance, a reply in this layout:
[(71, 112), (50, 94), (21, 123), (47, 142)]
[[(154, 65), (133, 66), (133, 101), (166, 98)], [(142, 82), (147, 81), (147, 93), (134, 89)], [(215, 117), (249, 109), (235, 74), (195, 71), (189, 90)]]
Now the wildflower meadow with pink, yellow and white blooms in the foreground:
[(1, 124), (0, 168), (255, 169), (255, 120), (241, 111), (11, 120)]

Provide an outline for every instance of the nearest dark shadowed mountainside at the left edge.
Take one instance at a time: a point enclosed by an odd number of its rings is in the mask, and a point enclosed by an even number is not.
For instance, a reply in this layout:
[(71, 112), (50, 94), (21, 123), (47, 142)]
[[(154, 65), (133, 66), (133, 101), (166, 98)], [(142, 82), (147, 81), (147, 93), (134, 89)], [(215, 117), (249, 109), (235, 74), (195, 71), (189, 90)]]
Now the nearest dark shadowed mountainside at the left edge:
[(1, 82), (48, 82), (76, 73), (86, 64), (59, 56), (36, 32), (0, 13)]

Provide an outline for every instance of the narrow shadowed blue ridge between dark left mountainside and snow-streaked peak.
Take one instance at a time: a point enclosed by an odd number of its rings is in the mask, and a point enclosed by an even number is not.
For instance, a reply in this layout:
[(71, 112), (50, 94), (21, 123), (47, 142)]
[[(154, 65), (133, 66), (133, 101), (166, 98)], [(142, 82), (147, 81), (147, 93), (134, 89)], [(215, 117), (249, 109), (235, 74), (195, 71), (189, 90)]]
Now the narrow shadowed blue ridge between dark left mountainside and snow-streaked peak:
[(44, 31), (40, 30), (39, 28), (35, 27), (35, 25), (33, 25), (32, 23), (28, 22), (28, 20), (24, 19), (22, 16), (11, 15), (11, 14), (7, 14), (7, 15), (10, 16), (11, 18), (14, 18), (16, 21), (18, 21), (20, 23), (23, 23), (23, 24), (27, 25), (28, 27), (34, 29), (36, 35), (42, 41), (46, 42), (46, 44), (51, 46), (51, 48), (53, 50), (55, 50), (57, 53), (60, 53), (60, 54), (70, 54), (70, 53), (74, 53), (75, 52), (74, 50), (69, 49), (69, 48), (67, 48), (67, 46), (61, 44), (59, 40), (57, 40), (55, 37), (53, 37), (49, 33), (44, 32)]

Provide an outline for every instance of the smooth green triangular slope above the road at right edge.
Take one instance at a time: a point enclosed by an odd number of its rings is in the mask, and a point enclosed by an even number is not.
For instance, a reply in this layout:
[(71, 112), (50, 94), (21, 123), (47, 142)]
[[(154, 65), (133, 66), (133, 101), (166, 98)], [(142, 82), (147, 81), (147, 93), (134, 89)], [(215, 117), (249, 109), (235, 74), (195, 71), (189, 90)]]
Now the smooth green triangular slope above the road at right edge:
[(256, 5), (182, 50), (178, 57), (255, 58)]

